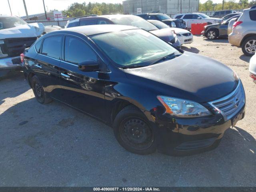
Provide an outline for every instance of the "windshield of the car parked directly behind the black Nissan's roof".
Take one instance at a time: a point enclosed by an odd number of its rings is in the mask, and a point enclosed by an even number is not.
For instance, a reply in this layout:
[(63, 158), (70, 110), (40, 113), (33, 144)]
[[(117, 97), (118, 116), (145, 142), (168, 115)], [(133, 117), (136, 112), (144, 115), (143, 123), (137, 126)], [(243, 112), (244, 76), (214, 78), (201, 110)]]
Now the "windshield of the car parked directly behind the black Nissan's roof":
[(158, 30), (158, 28), (156, 26), (154, 26), (150, 22), (148, 22), (138, 16), (113, 18), (112, 22), (114, 22), (114, 24), (118, 24), (118, 25), (135, 26), (135, 27), (144, 29), (146, 31)]

